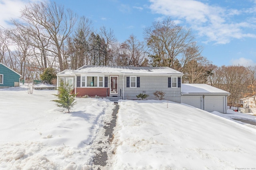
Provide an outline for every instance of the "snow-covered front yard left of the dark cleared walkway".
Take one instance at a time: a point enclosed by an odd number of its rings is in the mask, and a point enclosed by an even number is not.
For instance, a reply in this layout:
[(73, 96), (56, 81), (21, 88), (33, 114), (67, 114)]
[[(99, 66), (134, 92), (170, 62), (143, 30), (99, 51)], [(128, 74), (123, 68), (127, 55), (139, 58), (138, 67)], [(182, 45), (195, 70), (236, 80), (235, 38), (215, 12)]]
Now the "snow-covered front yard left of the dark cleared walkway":
[(54, 90), (0, 89), (0, 169), (90, 169), (96, 133), (113, 103), (77, 98), (72, 113), (55, 106)]

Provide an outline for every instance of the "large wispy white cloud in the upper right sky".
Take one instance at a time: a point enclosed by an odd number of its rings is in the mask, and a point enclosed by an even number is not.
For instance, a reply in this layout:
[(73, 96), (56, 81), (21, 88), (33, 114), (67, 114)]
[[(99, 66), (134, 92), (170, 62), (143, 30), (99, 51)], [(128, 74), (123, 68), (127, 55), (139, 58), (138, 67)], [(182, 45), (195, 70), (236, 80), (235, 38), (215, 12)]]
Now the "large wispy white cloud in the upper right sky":
[(243, 28), (255, 27), (247, 21), (236, 22), (232, 17), (245, 12), (220, 6), (210, 6), (198, 0), (150, 0), (150, 9), (157, 14), (170, 16), (174, 20), (183, 21), (206, 37), (206, 43), (229, 43), (231, 39), (256, 37), (255, 33), (244, 33)]

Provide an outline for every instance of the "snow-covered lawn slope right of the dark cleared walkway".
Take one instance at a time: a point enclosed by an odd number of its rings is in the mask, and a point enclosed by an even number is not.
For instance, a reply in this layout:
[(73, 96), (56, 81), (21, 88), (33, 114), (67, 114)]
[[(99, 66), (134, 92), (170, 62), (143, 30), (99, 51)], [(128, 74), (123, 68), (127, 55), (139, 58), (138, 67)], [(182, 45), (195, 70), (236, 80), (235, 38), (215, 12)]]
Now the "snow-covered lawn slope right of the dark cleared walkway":
[(114, 170), (256, 168), (253, 128), (166, 101), (119, 105)]

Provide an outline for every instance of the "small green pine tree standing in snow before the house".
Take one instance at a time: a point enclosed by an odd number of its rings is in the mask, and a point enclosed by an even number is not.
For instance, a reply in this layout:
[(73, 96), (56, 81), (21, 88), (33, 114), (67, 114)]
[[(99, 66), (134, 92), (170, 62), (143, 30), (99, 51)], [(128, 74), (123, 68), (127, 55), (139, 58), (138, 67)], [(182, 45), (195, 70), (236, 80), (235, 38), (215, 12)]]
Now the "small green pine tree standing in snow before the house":
[(71, 94), (72, 90), (72, 86), (69, 86), (68, 83), (64, 84), (58, 88), (59, 93), (54, 94), (54, 96), (58, 97), (58, 100), (52, 100), (57, 103), (56, 106), (68, 109), (68, 113), (70, 112), (69, 110), (71, 107), (76, 104), (76, 94)]

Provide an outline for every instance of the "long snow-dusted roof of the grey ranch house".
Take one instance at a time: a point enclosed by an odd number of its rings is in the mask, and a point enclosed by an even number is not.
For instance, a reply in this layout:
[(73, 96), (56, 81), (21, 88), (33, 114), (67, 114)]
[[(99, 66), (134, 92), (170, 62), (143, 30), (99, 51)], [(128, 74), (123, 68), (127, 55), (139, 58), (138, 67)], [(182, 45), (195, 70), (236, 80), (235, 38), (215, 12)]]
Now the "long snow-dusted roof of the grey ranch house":
[(74, 73), (133, 73), (133, 74), (183, 74), (169, 67), (82, 66), (77, 70), (64, 70), (58, 74)]

